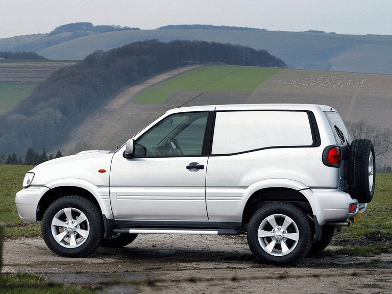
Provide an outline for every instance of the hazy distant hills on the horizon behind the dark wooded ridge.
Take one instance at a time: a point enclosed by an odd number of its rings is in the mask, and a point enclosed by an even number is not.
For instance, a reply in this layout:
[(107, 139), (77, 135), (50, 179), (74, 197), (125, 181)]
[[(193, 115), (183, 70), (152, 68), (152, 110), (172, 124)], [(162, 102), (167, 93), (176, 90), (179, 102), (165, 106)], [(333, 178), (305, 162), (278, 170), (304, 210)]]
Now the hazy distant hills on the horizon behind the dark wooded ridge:
[(240, 44), (282, 59), (289, 68), (392, 74), (391, 35), (339, 35), (231, 29), (60, 32), (0, 39), (0, 51), (33, 51), (49, 59), (81, 60), (96, 50), (157, 39)]

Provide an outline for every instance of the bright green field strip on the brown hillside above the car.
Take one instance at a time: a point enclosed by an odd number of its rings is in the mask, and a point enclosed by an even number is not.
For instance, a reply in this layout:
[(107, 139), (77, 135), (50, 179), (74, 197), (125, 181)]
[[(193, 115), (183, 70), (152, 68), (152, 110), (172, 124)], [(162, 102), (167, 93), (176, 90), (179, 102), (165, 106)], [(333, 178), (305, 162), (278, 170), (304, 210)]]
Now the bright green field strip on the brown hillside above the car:
[(281, 68), (206, 66), (161, 83), (173, 91), (252, 92)]

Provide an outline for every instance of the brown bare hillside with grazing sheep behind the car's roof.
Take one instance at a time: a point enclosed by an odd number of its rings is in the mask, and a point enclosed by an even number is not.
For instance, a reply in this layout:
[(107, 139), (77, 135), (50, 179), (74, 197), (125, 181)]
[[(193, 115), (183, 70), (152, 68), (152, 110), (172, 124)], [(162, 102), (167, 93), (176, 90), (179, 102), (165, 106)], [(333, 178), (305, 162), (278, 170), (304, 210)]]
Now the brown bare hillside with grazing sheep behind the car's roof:
[[(230, 68), (227, 67), (227, 70)], [(238, 68), (239, 75), (242, 75), (241, 69), (243, 68)], [(166, 110), (176, 108), (201, 93), (203, 95), (186, 106), (239, 103), (324, 104), (336, 108), (346, 121), (364, 119), (379, 128), (391, 127), (392, 76), (261, 68), (260, 74), (264, 71), (269, 78), (253, 90), (202, 91), (207, 84), (203, 86), (201, 83), (198, 90), (170, 90), (173, 89), (173, 84), (181, 84), (184, 76), (189, 76), (187, 79), (200, 76), (198, 71), (202, 71), (205, 76), (214, 71), (215, 80), (221, 81), (227, 76), (227, 70), (222, 69), (218, 75), (216, 67), (177, 69), (130, 87), (115, 96), (100, 111), (87, 117), (72, 139), (59, 145), (57, 149), (72, 150), (80, 142), (86, 142), (92, 149), (112, 150)], [(143, 91), (152, 87), (166, 88), (171, 93), (160, 103), (135, 103)]]

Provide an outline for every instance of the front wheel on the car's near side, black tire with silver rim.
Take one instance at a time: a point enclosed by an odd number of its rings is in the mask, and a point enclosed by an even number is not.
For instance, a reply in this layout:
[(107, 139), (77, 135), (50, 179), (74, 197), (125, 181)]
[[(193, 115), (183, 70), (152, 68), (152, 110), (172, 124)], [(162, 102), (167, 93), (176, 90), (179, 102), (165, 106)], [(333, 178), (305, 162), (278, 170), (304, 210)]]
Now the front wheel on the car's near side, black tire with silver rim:
[(104, 222), (94, 203), (73, 195), (62, 197), (47, 208), (41, 230), (47, 247), (54, 253), (85, 257), (100, 246)]

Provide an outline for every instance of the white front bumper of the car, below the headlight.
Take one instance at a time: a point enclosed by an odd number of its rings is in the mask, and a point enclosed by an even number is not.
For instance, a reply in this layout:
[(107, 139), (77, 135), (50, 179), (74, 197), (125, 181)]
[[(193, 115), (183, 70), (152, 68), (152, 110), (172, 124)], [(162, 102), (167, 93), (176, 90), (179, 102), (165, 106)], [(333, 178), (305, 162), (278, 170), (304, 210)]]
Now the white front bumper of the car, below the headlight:
[(15, 204), (19, 217), (27, 223), (37, 222), (38, 202), (49, 188), (30, 186), (16, 193)]

